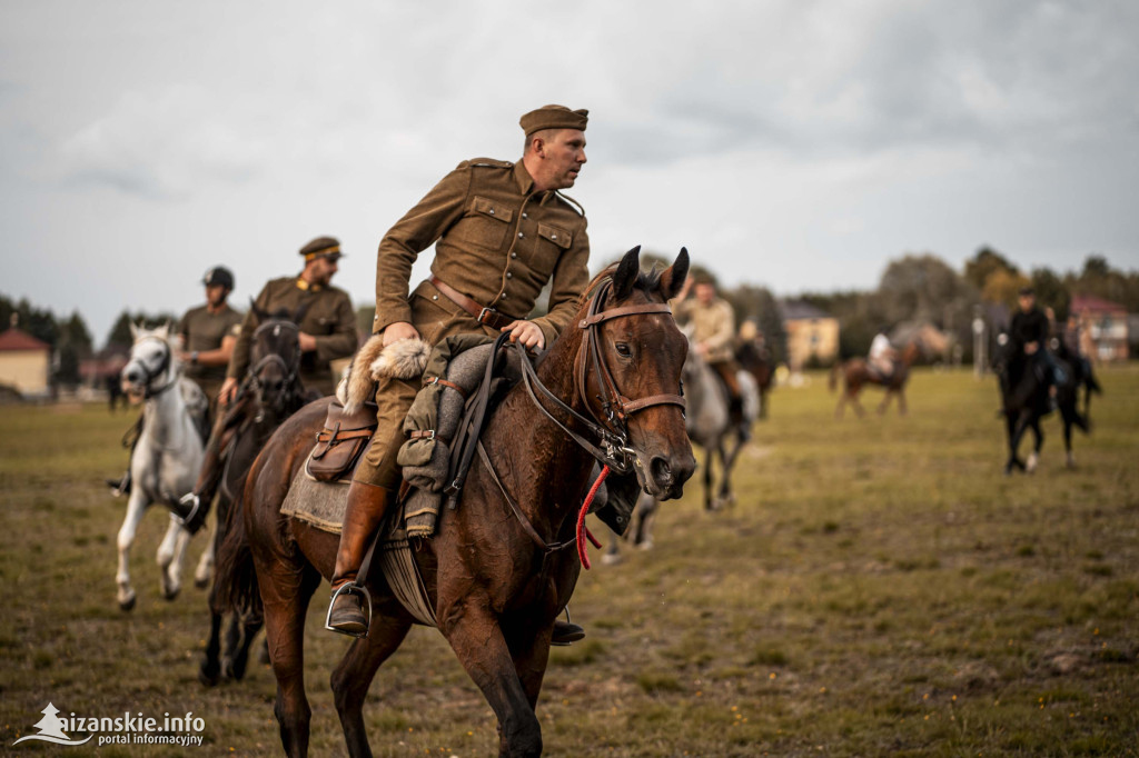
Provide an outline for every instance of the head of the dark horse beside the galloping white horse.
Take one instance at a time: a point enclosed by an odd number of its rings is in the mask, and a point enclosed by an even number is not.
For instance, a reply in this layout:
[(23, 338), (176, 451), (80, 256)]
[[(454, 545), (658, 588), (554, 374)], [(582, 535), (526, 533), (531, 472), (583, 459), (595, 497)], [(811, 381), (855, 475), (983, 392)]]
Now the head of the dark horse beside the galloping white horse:
[(249, 345), (249, 377), (262, 407), (284, 411), (301, 366), (301, 329), (306, 305), (295, 313), (269, 313), (253, 305), (257, 328)]

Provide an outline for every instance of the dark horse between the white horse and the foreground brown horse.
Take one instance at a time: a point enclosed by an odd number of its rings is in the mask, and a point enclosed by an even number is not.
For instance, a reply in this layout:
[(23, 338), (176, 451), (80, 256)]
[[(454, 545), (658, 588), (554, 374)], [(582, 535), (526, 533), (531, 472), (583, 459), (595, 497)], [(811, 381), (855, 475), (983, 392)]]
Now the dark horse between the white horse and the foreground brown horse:
[[(197, 483), (181, 499), (183, 524), (191, 533), (205, 522), (214, 496), (218, 499), (216, 547), (221, 546), (240, 502), (245, 477), (265, 440), (285, 419), (305, 403), (317, 399), (306, 393), (297, 370), (301, 365), (301, 343), (297, 323), (306, 306), (295, 313), (268, 313), (253, 305), (257, 328), (249, 346), (249, 370), (233, 397), (219, 418), (206, 445)], [(224, 674), (240, 679), (245, 675), (249, 645), (261, 629), (261, 619), (253, 615), (233, 618), (227, 634), (226, 657), (221, 658), (221, 624), (224, 608), (219, 603), (216, 585), (210, 592), (210, 640), (198, 679), (212, 686)]]

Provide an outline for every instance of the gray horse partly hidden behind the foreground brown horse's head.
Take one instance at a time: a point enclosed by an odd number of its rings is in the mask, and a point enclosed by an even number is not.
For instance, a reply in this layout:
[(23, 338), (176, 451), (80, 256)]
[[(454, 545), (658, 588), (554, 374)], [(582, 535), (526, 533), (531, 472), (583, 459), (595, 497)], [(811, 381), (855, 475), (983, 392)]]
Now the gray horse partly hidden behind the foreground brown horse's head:
[[(744, 412), (743, 422), (732, 423), (728, 389), (716, 372), (690, 346), (681, 378), (685, 382), (685, 425), (688, 438), (705, 451), (704, 508), (708, 511), (719, 510), (736, 501), (731, 489), (731, 469), (760, 415), (759, 387), (751, 372), (737, 373), (739, 390), (744, 397)], [(713, 461), (716, 458), (721, 469), (719, 488), (714, 486)], [(633, 509), (632, 524), (625, 534), (641, 550), (653, 546), (653, 521), (658, 506), (656, 499), (642, 493)], [(617, 541), (611, 539), (603, 562), (616, 563), (620, 560)]]

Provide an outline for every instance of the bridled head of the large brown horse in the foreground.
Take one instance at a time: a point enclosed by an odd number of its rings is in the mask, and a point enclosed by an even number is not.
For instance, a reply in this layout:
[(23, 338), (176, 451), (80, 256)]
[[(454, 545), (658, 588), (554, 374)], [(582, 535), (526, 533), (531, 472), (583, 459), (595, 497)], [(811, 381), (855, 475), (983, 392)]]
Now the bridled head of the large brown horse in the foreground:
[(680, 398), (688, 340), (667, 307), (688, 274), (688, 252), (649, 274), (639, 254), (633, 248), (595, 280), (575, 324), (585, 339), (574, 372), (582, 402), (623, 442), (641, 487), (667, 500), (696, 468)]

